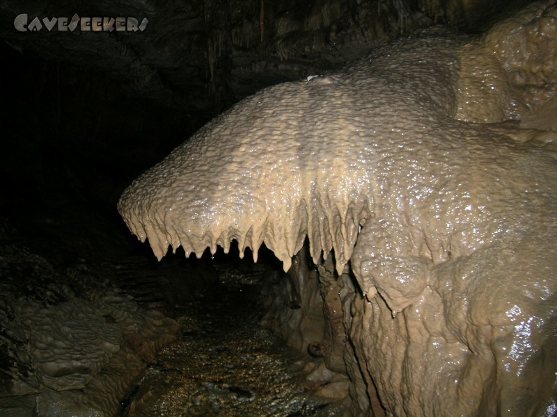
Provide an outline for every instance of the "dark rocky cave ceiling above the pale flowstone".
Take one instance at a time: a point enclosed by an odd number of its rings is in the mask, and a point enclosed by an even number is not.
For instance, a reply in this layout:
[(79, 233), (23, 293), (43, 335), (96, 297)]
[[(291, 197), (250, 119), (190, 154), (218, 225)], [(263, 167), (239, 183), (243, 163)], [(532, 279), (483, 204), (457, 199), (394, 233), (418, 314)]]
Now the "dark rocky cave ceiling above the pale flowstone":
[[(444, 24), (478, 31), (510, 3), (525, 2), (476, 3), (2, 1), (0, 37), (4, 47), (18, 54), (101, 74), (133, 97), (207, 118), (266, 85), (334, 70), (371, 47), (419, 28)], [(22, 14), (26, 25), (17, 31), (15, 19)], [(67, 19), (71, 28), (74, 15), (81, 19), (74, 30), (61, 32), (52, 20)], [(42, 28), (31, 24), (36, 17)], [(135, 18), (143, 26), (135, 31), (81, 31), (88, 17)], [(54, 22), (52, 29), (45, 18)]]

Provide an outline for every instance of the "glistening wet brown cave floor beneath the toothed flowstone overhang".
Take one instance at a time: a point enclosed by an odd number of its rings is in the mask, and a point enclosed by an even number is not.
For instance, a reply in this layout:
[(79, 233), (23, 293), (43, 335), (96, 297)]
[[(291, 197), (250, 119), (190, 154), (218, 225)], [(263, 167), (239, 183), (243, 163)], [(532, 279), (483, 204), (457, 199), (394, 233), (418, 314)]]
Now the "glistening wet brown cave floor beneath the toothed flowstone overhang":
[[(180, 336), (157, 354), (123, 400), (121, 416), (343, 415), (338, 402), (312, 395), (320, 382), (306, 380), (301, 368), (317, 366), (318, 360), (292, 351), (261, 328), (262, 265), (220, 263), (214, 265), (216, 275), (204, 266), (194, 268), (193, 275), (205, 274), (199, 288), (192, 284), (195, 276), (180, 277), (175, 263), (182, 262), (169, 263), (162, 283), (172, 281), (166, 294), (172, 293)], [(198, 286), (194, 294), (192, 286)], [(143, 298), (155, 307), (156, 291), (150, 288), (151, 297)]]

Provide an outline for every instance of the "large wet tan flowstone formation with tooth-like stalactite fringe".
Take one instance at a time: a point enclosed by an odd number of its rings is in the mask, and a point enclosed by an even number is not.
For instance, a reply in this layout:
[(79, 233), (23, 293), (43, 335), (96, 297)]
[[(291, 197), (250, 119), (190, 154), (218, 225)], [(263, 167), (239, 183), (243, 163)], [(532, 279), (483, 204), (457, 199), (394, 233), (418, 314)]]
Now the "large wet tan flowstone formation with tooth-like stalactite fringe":
[(432, 29), (262, 90), (134, 181), (120, 214), (159, 259), (237, 240), (287, 271), (307, 236), (354, 414), (552, 415), (556, 22), (533, 3), (480, 37)]

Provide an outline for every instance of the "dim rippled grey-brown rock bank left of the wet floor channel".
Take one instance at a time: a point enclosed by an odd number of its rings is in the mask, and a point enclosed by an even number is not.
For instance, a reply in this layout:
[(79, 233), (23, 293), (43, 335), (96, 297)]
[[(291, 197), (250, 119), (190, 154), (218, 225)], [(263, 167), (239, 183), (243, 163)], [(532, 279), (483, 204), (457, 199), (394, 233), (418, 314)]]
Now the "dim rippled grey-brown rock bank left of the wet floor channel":
[(114, 416), (178, 333), (178, 323), (141, 309), (84, 262), (61, 273), (1, 243), (0, 276), (3, 416)]

